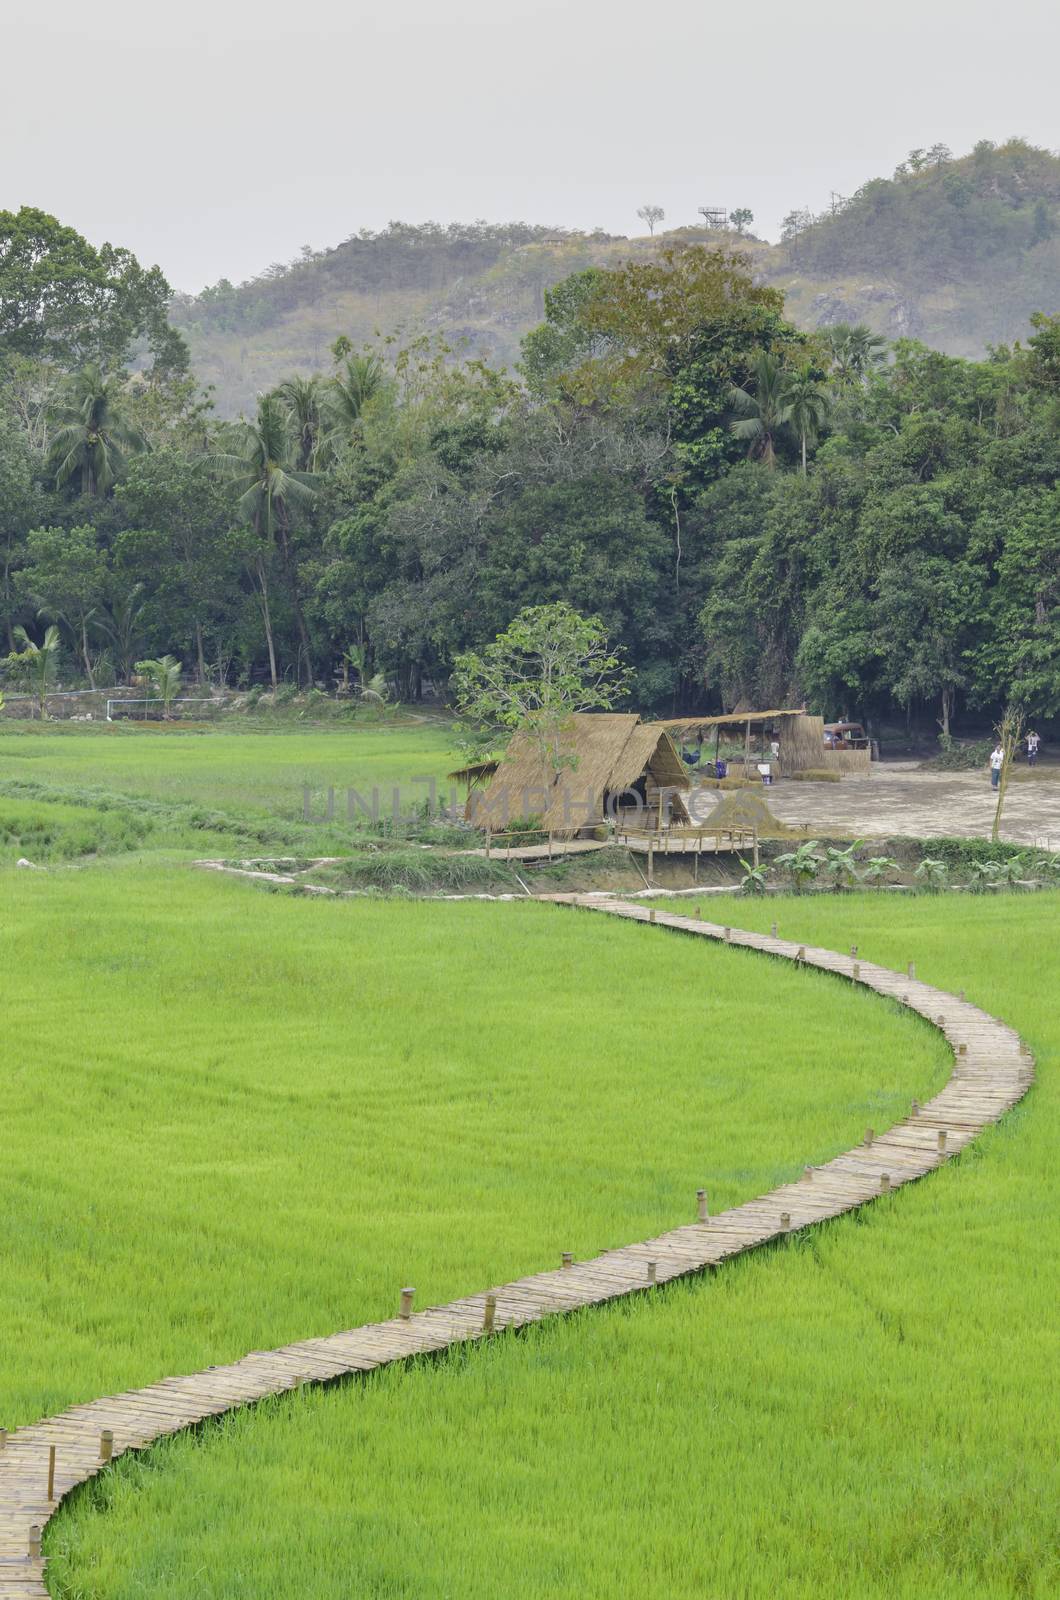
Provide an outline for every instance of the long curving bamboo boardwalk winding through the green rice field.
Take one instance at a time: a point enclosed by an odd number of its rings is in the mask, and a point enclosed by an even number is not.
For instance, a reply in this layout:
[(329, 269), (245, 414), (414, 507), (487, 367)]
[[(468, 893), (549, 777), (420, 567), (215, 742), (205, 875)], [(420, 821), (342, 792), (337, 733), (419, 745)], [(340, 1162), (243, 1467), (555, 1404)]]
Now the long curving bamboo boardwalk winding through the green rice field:
[(658, 1238), (536, 1272), (448, 1306), (410, 1310), (392, 1322), (303, 1339), (279, 1350), (253, 1350), (229, 1366), (165, 1378), (147, 1389), (70, 1406), (6, 1438), (0, 1435), (0, 1600), (45, 1600), (40, 1530), (62, 1496), (101, 1469), (101, 1456), (139, 1450), (165, 1434), (306, 1381), (328, 1382), (368, 1373), (387, 1362), (488, 1338), (492, 1330), (522, 1328), (621, 1294), (650, 1293), (658, 1283), (714, 1267), (729, 1256), (839, 1216), (934, 1171), (1004, 1115), (1033, 1080), (1033, 1058), (1010, 1027), (911, 976), (833, 950), (642, 906), (580, 896), (556, 899), (698, 938), (725, 939), (866, 984), (919, 1011), (945, 1032), (954, 1050), (953, 1074), (942, 1093), (922, 1107), (914, 1104), (905, 1122), (881, 1131), (871, 1144), (858, 1144), (833, 1162), (807, 1168), (797, 1182), (719, 1216), (706, 1216), (706, 1197), (700, 1195), (690, 1203), (698, 1219)]

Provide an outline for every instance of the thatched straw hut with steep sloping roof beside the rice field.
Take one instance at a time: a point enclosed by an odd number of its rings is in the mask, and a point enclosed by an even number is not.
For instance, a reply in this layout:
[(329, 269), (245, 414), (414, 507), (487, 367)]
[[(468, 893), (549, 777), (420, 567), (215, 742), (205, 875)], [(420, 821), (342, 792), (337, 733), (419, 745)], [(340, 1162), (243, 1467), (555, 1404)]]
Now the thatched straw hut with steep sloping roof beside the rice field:
[(578, 712), (560, 734), (556, 768), (525, 733), (514, 734), (485, 792), (468, 797), (468, 819), (503, 829), (541, 818), (551, 834), (576, 834), (615, 816), (640, 811), (687, 822), (689, 774), (674, 741), (656, 722), (632, 712)]

